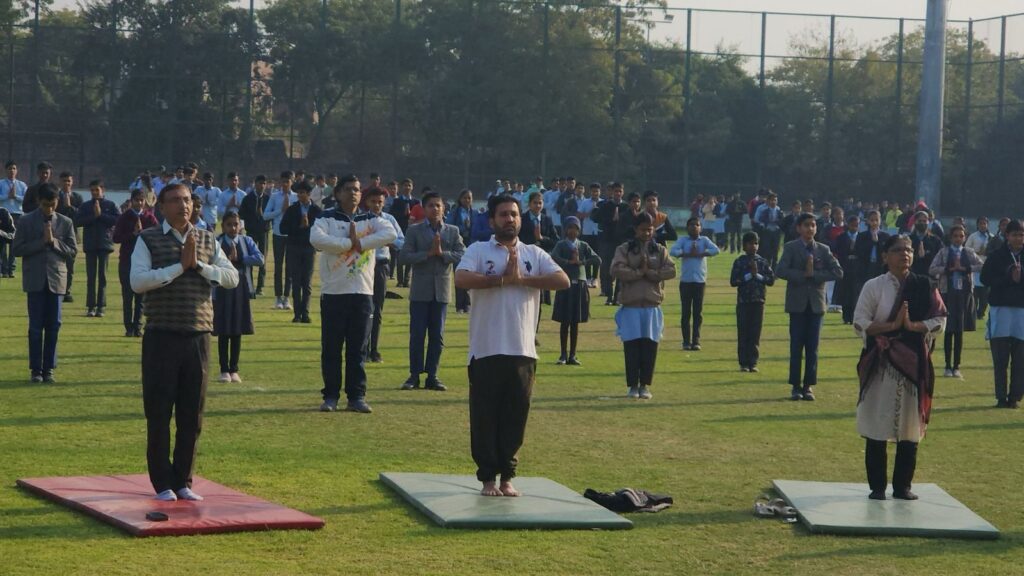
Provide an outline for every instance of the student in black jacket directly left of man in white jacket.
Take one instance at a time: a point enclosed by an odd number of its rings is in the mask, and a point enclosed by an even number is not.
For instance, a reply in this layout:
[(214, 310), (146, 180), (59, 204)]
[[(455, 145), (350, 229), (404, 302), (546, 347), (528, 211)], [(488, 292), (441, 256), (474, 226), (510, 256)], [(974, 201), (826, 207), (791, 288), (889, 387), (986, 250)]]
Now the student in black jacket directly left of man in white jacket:
[(285, 210), (281, 218), (281, 232), (288, 237), (288, 259), (285, 266), (292, 277), (292, 302), (295, 317), (292, 322), (309, 324), (309, 295), (312, 293), (313, 262), (316, 250), (309, 243), (309, 231), (321, 215), (319, 206), (309, 197), (312, 192), (307, 182), (295, 184), (298, 202)]

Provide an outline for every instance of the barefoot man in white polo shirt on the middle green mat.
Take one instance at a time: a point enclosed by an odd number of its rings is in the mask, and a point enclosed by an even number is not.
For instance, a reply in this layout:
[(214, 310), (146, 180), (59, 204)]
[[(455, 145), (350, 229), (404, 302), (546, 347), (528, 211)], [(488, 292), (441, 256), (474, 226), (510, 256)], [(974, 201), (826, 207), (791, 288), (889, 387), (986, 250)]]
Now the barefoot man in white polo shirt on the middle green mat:
[[(470, 291), (469, 429), (484, 496), (518, 496), (512, 486), (537, 372), (534, 342), (542, 290), (569, 279), (539, 246), (519, 242), (519, 203), (487, 199), (495, 235), (466, 248), (455, 286)], [(495, 482), (500, 477), (501, 484)]]

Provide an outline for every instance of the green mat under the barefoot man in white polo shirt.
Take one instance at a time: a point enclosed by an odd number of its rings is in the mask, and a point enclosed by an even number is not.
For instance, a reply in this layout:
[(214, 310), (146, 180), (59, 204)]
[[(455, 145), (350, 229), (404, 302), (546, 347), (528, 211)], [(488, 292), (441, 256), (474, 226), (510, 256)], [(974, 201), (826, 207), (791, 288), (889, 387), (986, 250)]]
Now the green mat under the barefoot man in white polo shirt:
[(472, 476), (381, 472), (392, 488), (445, 528), (624, 530), (633, 523), (546, 478), (517, 478), (517, 498), (480, 496)]

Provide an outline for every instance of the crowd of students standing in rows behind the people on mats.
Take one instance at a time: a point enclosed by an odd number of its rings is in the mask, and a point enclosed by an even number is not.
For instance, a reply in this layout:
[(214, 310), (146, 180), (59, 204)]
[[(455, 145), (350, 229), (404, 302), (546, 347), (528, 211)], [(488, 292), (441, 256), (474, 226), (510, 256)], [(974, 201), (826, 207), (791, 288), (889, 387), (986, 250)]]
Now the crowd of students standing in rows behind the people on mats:
[[(0, 180), (3, 276), (12, 276), (16, 269), (11, 250), (16, 220), (34, 209), (39, 190), (49, 183), (51, 170), (49, 164), (41, 163), (37, 167), (38, 181), (28, 187), (16, 178), (14, 163), (6, 166), (7, 178)], [(55, 211), (81, 230), (88, 317), (104, 315), (106, 261), (115, 244), (120, 246), (118, 276), (125, 335), (140, 336), (142, 304), (129, 281), (135, 241), (141, 231), (160, 225), (163, 220), (156, 202), (160, 190), (169, 183), (188, 186), (195, 206), (193, 224), (208, 231), (219, 229), (222, 250), (245, 279), (238, 288), (217, 289), (214, 294), (220, 379), (241, 381), (241, 336), (253, 332), (250, 300), (263, 294), (271, 255), (273, 307), (292, 311), (293, 322), (311, 323), (311, 279), (316, 254), (323, 252), (314, 238), (314, 222), (325, 217), (326, 211), (338, 211), (335, 192), (342, 184), (335, 174), (301, 171), (284, 171), (276, 178), (257, 175), (245, 184), (238, 173), (230, 172), (223, 189), (214, 180), (213, 174), (201, 174), (195, 164), (174, 172), (146, 172), (132, 182), (130, 200), (118, 207), (104, 198), (102, 181), (89, 182), (90, 198), (84, 200), (73, 190), (73, 176), (63, 172), (58, 176)], [(429, 188), (416, 195), (411, 178), (385, 183), (376, 173), (359, 183), (358, 205), (345, 218), (376, 218), (394, 232), (394, 239), (360, 255), (375, 261), (373, 278), (369, 279), (371, 312), (367, 337), (359, 346), (360, 362), (382, 361), (380, 326), (388, 283), (394, 282), (395, 286), (410, 288), (411, 300), (410, 376), (402, 387), (419, 387), (421, 374), (426, 374), (426, 387), (442, 390), (445, 386), (437, 378), (437, 367), (443, 348), (446, 306), (454, 299), (456, 313), (464, 314), (472, 304), (467, 290), (457, 287), (454, 297), (450, 294), (452, 271), (466, 247), (492, 238), (487, 213), (474, 207), (469, 190), (449, 199)], [(847, 199), (836, 205), (825, 202), (816, 209), (813, 201), (803, 200), (794, 201), (785, 212), (777, 195), (762, 190), (749, 200), (738, 194), (728, 199), (706, 200), (697, 196), (689, 207), (686, 232), (679, 236), (672, 218), (660, 211), (656, 192), (627, 194), (621, 182), (587, 184), (567, 176), (549, 182), (536, 178), (526, 186), (505, 179), (498, 180), (496, 189), (487, 194), (501, 195), (512, 197), (519, 205), (519, 242), (549, 252), (570, 279), (569, 288), (556, 292), (552, 306), (551, 319), (559, 323), (558, 364), (581, 364), (579, 353), (586, 346), (580, 346), (580, 325), (590, 318), (591, 289), (597, 289), (605, 305), (622, 306), (616, 321), (625, 346), (628, 395), (635, 398), (650, 398), (664, 325), (659, 317), (662, 284), (676, 275), (673, 258), (679, 259), (681, 347), (699, 352), (707, 260), (725, 251), (738, 255), (729, 282), (736, 288), (736, 352), (743, 372), (758, 371), (766, 287), (777, 278), (786, 281), (791, 396), (795, 400), (813, 400), (822, 315), (841, 313), (845, 324), (854, 323), (863, 286), (886, 273), (882, 245), (899, 234), (908, 234), (910, 239), (914, 252), (911, 271), (930, 278), (941, 293), (948, 315), (944, 375), (961, 377), (964, 332), (976, 330), (990, 300), (990, 286), (983, 282), (982, 268), (986, 258), (1007, 246), (1006, 230), (1012, 222), (1004, 218), (998, 230), (990, 232), (988, 220), (981, 217), (969, 233), (964, 219), (956, 218), (947, 233), (922, 202), (876, 205)], [(749, 232), (745, 222), (750, 222)], [(795, 244), (798, 242), (803, 246)], [(1011, 261), (1019, 265), (1015, 258), (1012, 255)], [(73, 256), (67, 258), (63, 302), (74, 299), (74, 262)], [(322, 270), (325, 280), (331, 274)], [(644, 282), (648, 285), (641, 287)], [(544, 294), (543, 298), (552, 303), (550, 295)], [(1005, 302), (1006, 296), (1001, 299)], [(643, 308), (643, 314), (634, 308)], [(1005, 314), (999, 320), (999, 327), (1010, 325)], [(993, 337), (1012, 336), (999, 332)], [(653, 344), (639, 344), (638, 340)], [(1016, 342), (1006, 346), (993, 343), (993, 351), (1000, 351), (993, 352), (996, 371), (1005, 366), (1004, 357), (1018, 358), (1018, 347)], [(1018, 374), (1016, 364), (1024, 370), (1024, 361), (1015, 363), (1014, 374)], [(52, 379), (52, 368), (33, 367), (33, 377), (37, 376)], [(1019, 400), (1004, 395), (1000, 402), (1009, 405)]]

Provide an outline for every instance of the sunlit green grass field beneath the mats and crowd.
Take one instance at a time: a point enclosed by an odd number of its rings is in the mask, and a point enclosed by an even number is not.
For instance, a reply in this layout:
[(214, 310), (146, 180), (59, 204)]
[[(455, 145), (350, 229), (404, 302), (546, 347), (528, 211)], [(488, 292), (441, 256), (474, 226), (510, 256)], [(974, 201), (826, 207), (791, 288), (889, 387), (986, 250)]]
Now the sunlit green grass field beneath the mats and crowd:
[[(772, 479), (863, 482), (857, 436), (859, 341), (828, 315), (817, 402), (791, 402), (784, 284), (769, 292), (762, 371), (735, 362), (732, 257), (711, 260), (703, 351), (679, 349), (678, 291), (669, 286), (654, 399), (625, 399), (613, 308), (581, 334), (582, 367), (554, 364), (557, 325), (541, 328), (534, 408), (520, 472), (583, 492), (625, 486), (676, 505), (634, 516), (624, 532), (455, 531), (435, 527), (385, 489), (381, 470), (472, 474), (467, 320), (449, 316), (447, 393), (401, 392), (408, 308), (388, 300), (384, 364), (369, 365), (369, 416), (321, 413), (319, 317), (291, 323), (256, 300), (242, 384), (211, 382), (197, 472), (322, 517), (316, 532), (133, 539), (14, 488), (25, 477), (145, 471), (139, 340), (123, 337), (116, 263), (112, 305), (65, 308), (56, 384), (29, 380), (20, 281), (0, 284), (0, 574), (1020, 574), (1024, 416), (995, 410), (981, 332), (966, 338), (963, 381), (940, 378), (918, 482), (935, 482), (1002, 530), (991, 542), (830, 537), (755, 519)], [(314, 287), (314, 290), (316, 288)], [(454, 312), (454, 311), (453, 311)], [(550, 318), (550, 307), (545, 307)], [(212, 359), (215, 358), (215, 351)], [(941, 353), (940, 353), (941, 356)], [(941, 359), (939, 360), (941, 368)], [(213, 370), (216, 371), (215, 361)], [(890, 458), (891, 462), (891, 458)]]

